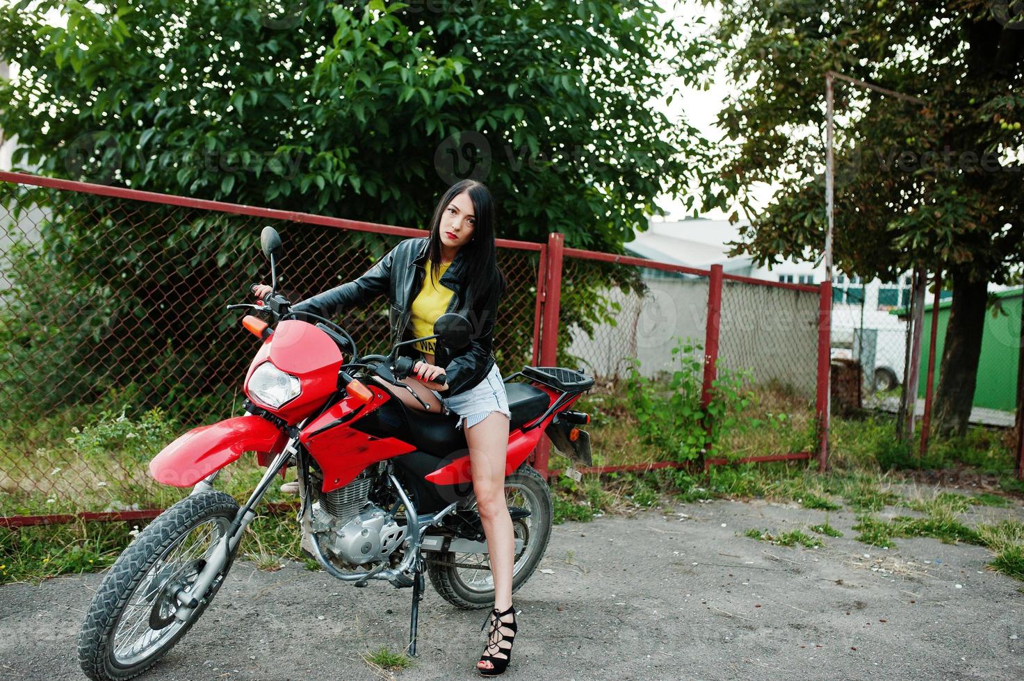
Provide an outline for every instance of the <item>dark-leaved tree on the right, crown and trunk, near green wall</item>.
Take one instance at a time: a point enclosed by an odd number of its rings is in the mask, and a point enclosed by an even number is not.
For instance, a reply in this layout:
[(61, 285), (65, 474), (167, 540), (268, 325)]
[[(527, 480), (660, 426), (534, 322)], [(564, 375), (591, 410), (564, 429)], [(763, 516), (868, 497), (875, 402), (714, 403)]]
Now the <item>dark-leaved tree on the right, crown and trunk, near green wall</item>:
[[(968, 422), (986, 284), (1024, 261), (1020, 150), (1024, 20), (985, 0), (744, 0), (721, 10), (711, 53), (740, 86), (720, 115), (729, 141), (705, 184), (751, 214), (737, 251), (760, 262), (814, 259), (824, 244), (824, 74), (833, 70), (922, 98), (915, 104), (837, 84), (835, 258), (894, 279), (943, 270), (954, 290), (936, 418)], [(750, 210), (753, 188), (781, 188)]]

